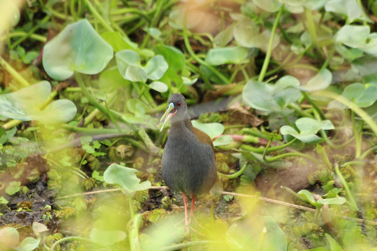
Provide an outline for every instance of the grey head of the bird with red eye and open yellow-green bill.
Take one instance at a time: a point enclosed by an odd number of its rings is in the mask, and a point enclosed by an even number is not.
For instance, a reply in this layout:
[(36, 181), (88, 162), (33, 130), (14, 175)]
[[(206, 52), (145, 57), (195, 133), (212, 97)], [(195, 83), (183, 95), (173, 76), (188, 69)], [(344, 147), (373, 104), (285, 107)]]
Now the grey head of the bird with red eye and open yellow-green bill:
[(183, 95), (174, 93), (169, 99), (169, 105), (166, 108), (166, 112), (162, 115), (161, 120), (164, 120), (162, 124), (161, 130), (164, 128), (166, 122), (170, 119), (172, 123), (177, 122), (179, 120), (184, 120), (187, 116), (187, 103), (186, 99)]

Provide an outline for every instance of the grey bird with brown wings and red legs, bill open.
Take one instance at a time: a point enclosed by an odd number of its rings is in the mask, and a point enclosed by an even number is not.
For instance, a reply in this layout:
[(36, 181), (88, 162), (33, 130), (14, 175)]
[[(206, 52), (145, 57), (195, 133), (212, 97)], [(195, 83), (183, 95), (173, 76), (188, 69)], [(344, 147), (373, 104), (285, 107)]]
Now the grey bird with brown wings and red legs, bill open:
[[(182, 192), (188, 230), (194, 218), (196, 196), (209, 192), (217, 179), (215, 148), (208, 134), (193, 127), (183, 95), (172, 94), (162, 120), (164, 123), (160, 131), (169, 120), (172, 125), (162, 153), (161, 175), (170, 190)], [(190, 220), (187, 216), (187, 195), (192, 199)]]

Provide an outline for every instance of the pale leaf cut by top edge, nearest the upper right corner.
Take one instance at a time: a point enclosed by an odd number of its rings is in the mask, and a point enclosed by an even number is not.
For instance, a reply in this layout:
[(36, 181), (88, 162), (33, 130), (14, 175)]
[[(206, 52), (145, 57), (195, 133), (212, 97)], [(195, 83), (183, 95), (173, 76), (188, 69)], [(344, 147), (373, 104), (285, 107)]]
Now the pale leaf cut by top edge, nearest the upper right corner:
[(372, 20), (364, 13), (357, 0), (329, 0), (325, 5), (325, 10), (345, 15), (347, 24), (356, 20), (372, 23)]

